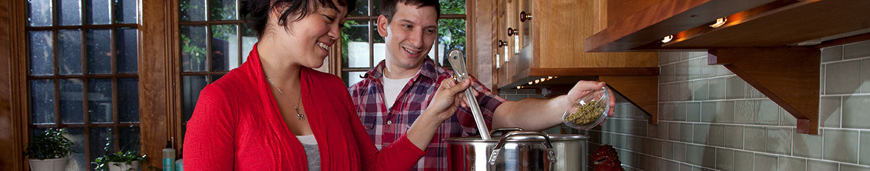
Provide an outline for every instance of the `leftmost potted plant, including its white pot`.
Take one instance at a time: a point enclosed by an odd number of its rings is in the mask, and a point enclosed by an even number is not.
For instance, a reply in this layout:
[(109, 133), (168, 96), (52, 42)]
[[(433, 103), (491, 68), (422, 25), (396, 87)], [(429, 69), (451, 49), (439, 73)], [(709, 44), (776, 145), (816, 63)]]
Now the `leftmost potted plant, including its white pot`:
[(33, 137), (27, 144), (24, 155), (30, 159), (30, 170), (60, 171), (66, 169), (68, 156), (72, 150), (72, 141), (64, 137), (67, 134), (63, 128), (49, 128)]

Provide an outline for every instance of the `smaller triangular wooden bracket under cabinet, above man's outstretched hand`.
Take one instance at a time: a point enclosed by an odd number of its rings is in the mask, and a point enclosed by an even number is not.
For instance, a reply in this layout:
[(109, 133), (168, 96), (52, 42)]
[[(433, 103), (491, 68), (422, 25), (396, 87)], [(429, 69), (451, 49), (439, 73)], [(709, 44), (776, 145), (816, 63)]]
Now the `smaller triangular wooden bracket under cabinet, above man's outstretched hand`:
[(649, 123), (659, 124), (659, 76), (599, 76), (599, 81), (650, 115)]

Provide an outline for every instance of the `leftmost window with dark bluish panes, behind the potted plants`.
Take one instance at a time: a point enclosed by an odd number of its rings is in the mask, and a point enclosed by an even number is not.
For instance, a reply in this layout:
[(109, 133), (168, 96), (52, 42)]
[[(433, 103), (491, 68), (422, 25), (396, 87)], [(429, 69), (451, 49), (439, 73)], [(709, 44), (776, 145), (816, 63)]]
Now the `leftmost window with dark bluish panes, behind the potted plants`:
[(139, 151), (138, 0), (27, 2), (29, 128), (66, 128), (69, 168)]

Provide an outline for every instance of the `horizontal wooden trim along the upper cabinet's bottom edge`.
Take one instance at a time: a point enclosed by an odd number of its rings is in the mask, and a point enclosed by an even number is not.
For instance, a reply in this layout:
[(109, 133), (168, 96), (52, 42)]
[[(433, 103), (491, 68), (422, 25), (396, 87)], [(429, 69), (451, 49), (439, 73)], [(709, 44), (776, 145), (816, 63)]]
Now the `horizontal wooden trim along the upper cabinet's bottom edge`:
[(531, 68), (529, 76), (659, 76), (659, 68)]

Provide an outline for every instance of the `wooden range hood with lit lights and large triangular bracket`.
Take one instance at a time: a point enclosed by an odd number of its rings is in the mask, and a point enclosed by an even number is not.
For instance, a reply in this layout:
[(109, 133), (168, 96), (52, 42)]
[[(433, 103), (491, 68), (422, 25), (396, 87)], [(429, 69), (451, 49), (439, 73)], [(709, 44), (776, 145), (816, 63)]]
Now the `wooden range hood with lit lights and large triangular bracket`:
[[(606, 28), (586, 35), (597, 52), (706, 49), (797, 119), (796, 132), (819, 127), (820, 48), (870, 40), (870, 1), (594, 0)], [(663, 41), (663, 37), (672, 37)]]

